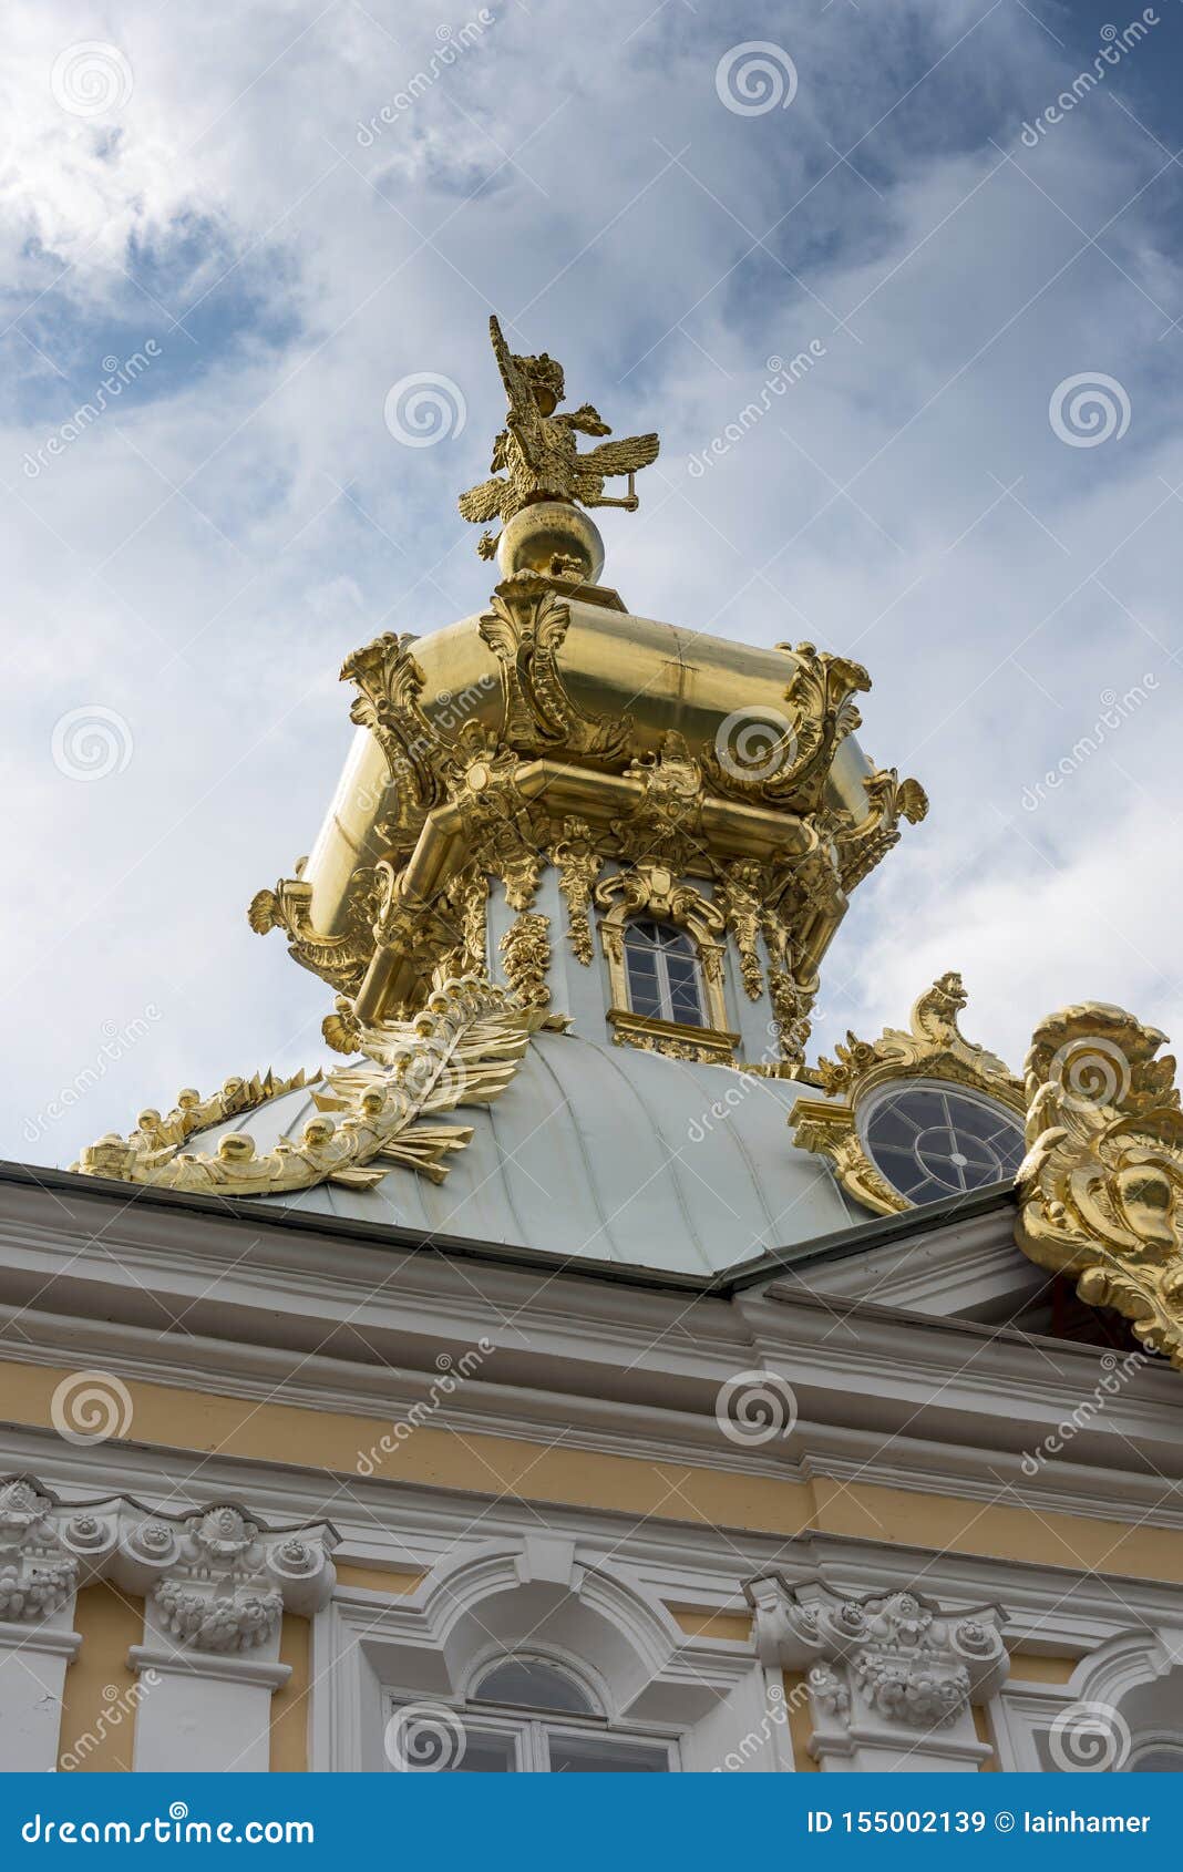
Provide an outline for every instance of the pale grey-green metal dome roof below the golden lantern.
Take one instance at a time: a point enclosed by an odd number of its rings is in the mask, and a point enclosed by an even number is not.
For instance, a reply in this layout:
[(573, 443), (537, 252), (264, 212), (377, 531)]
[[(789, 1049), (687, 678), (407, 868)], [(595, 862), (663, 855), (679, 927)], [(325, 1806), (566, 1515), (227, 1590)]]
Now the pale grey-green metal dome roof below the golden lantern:
[[(799, 1093), (790, 1080), (543, 1031), (496, 1104), (457, 1114), (474, 1138), (445, 1183), (395, 1168), (369, 1191), (320, 1183), (262, 1200), (558, 1260), (715, 1273), (865, 1221), (829, 1166), (794, 1146)], [(249, 1131), (266, 1151), (313, 1114), (307, 1090), (288, 1091), (255, 1110)], [(232, 1129), (193, 1144), (212, 1149)]]

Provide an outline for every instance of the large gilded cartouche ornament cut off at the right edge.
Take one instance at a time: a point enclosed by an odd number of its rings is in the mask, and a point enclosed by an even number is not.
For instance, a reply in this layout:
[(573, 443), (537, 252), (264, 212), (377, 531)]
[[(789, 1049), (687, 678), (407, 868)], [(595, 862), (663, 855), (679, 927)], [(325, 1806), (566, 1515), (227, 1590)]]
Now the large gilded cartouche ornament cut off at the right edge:
[(1015, 1237), (1183, 1368), (1183, 1112), (1164, 1043), (1101, 1002), (1035, 1028)]

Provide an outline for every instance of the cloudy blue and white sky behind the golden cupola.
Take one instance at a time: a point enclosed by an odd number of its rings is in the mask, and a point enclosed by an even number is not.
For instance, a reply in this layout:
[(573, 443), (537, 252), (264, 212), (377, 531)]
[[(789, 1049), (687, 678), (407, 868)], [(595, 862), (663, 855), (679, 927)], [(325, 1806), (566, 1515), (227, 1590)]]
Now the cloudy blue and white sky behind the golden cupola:
[[(723, 101), (751, 41), (790, 103)], [(1074, 1000), (1183, 1033), (1179, 0), (43, 0), (11, 54), (4, 1155), (320, 1061), (328, 992), (245, 904), (333, 790), (343, 657), (489, 593), (455, 492), (500, 421), (490, 309), (663, 434), (605, 522), (631, 608), (854, 653), (863, 745), (928, 788), (822, 1045), (945, 968), (1013, 1065)], [(384, 421), (412, 374), (464, 401), (431, 447)]]

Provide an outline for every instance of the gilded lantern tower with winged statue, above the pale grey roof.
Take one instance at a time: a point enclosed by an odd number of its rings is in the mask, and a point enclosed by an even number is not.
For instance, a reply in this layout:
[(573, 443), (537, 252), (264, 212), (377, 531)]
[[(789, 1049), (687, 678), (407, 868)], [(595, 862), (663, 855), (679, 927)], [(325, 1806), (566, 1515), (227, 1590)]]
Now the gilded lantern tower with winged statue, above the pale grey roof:
[[(861, 665), (681, 631), (599, 582), (586, 507), (633, 511), (657, 436), (580, 451), (608, 434), (597, 410), (560, 410), (562, 367), (513, 356), (496, 318), (492, 344), (509, 410), (460, 511), (502, 522), (479, 545), (502, 578), (477, 616), (346, 659), (354, 749), (309, 859), (251, 923), (337, 992), (326, 1037), (346, 1052), (472, 973), (590, 1039), (792, 1076), (850, 891), (923, 788), (861, 753)], [(689, 957), (672, 936), (655, 968), (640, 957), (642, 992), (636, 921), (681, 930)], [(696, 1003), (670, 992), (691, 966)]]

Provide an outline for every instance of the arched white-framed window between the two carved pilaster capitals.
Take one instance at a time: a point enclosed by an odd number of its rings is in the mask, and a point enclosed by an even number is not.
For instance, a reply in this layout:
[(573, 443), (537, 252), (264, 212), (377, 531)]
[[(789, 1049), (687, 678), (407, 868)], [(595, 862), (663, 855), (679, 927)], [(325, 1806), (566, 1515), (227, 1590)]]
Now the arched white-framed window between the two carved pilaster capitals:
[(466, 1704), (393, 1704), (395, 1769), (460, 1775), (668, 1775), (674, 1745), (614, 1730), (592, 1690), (541, 1657), (489, 1664)]

